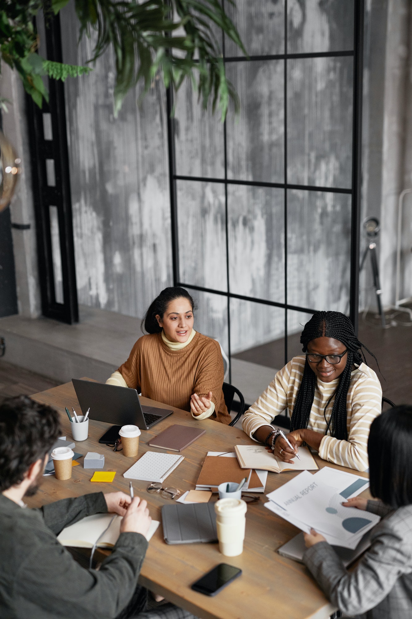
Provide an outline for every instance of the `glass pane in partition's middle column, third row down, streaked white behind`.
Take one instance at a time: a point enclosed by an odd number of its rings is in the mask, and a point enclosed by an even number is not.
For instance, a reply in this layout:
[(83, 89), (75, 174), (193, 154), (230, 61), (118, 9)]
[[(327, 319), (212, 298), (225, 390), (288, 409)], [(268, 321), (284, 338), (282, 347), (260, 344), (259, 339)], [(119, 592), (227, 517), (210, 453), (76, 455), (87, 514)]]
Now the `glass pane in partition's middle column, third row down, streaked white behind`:
[(230, 292), (285, 300), (284, 190), (228, 186)]

